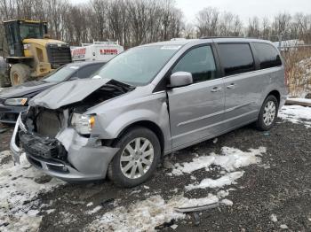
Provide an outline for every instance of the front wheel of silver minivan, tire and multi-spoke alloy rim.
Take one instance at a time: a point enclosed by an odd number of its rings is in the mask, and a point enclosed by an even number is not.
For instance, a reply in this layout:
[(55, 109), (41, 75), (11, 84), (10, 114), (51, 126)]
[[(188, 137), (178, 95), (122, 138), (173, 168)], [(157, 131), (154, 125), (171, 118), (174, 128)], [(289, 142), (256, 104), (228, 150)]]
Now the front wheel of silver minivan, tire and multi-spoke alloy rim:
[[(148, 144), (145, 152), (136, 150), (137, 144), (139, 144), (137, 147), (143, 149), (145, 143)], [(161, 159), (161, 145), (155, 133), (148, 128), (128, 130), (116, 141), (114, 146), (120, 150), (108, 166), (108, 178), (116, 185), (125, 188), (140, 185), (156, 171), (156, 166)], [(129, 149), (129, 146), (132, 150)], [(153, 156), (148, 155), (152, 154), (152, 151)], [(143, 158), (144, 155), (145, 158)], [(122, 159), (124, 161), (121, 162)]]

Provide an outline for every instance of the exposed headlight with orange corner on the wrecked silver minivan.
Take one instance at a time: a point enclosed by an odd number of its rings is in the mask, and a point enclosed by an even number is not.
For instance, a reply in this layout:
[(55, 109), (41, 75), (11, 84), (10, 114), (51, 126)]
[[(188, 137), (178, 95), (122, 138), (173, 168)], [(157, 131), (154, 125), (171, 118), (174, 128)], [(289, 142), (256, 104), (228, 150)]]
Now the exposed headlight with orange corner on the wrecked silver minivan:
[(76, 112), (72, 115), (71, 125), (81, 135), (90, 135), (94, 124), (95, 117), (93, 115), (84, 115)]

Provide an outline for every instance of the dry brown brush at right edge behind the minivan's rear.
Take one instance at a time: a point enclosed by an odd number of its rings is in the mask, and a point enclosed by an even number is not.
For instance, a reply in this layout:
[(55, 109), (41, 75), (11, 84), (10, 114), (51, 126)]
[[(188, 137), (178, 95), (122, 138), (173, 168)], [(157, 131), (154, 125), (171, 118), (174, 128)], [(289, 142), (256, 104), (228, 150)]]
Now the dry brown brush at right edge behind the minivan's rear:
[(311, 93), (311, 47), (283, 51), (290, 97)]

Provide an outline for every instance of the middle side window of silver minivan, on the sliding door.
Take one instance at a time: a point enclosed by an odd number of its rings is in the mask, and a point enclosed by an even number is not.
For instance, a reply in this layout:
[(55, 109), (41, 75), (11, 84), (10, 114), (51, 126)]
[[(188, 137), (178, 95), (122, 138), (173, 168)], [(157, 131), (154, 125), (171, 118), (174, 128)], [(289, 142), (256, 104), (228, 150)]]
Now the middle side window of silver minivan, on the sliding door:
[(251, 47), (248, 43), (219, 43), (219, 56), (225, 75), (255, 70)]

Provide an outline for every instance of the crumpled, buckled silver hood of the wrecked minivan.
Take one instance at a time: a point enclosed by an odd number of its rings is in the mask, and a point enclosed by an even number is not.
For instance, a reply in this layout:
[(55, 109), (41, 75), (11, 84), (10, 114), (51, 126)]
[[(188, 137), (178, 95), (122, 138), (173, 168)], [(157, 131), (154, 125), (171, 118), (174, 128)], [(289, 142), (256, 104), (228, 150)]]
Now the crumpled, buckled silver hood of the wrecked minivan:
[(43, 106), (52, 110), (61, 106), (83, 101), (97, 89), (111, 81), (110, 79), (85, 79), (60, 83), (51, 89), (33, 97), (30, 106)]

